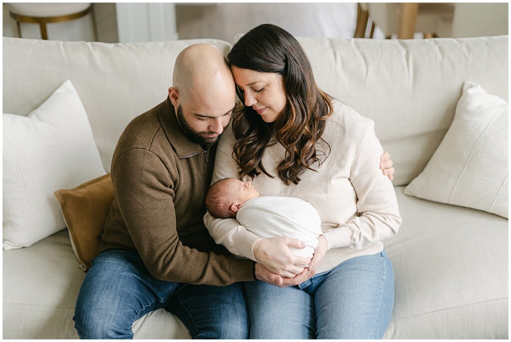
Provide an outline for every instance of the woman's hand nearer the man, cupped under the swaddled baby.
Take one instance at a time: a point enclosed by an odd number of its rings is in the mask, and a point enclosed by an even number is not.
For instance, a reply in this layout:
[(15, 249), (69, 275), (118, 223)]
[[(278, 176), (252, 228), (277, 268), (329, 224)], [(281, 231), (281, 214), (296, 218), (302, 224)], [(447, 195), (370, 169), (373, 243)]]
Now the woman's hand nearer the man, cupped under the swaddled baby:
[(255, 260), (262, 263), (270, 272), (293, 278), (304, 271), (304, 265), (309, 264), (311, 258), (291, 253), (290, 247), (305, 248), (305, 245), (298, 239), (277, 236), (255, 241), (253, 252)]

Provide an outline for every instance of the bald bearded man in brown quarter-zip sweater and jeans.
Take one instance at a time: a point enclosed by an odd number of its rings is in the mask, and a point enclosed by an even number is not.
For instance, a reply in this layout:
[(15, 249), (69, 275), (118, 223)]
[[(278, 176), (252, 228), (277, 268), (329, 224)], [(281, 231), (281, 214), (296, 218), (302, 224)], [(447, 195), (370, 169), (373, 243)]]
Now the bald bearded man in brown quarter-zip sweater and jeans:
[(235, 102), (224, 55), (213, 45), (191, 45), (176, 59), (169, 97), (124, 130), (112, 158), (114, 200), (99, 255), (76, 304), (80, 338), (133, 338), (135, 320), (165, 308), (194, 338), (244, 339), (248, 319), (239, 282), (257, 275), (289, 286), (314, 274), (272, 274), (230, 255), (204, 227), (215, 143)]

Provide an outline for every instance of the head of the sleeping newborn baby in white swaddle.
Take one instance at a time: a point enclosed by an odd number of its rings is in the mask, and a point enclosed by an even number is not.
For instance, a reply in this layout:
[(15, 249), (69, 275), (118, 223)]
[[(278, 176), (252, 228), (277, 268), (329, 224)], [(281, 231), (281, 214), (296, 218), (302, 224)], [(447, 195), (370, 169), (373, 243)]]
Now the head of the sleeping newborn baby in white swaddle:
[(236, 217), (245, 201), (259, 196), (259, 191), (250, 181), (224, 178), (215, 182), (206, 194), (206, 208), (213, 216)]

